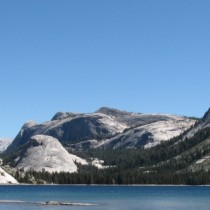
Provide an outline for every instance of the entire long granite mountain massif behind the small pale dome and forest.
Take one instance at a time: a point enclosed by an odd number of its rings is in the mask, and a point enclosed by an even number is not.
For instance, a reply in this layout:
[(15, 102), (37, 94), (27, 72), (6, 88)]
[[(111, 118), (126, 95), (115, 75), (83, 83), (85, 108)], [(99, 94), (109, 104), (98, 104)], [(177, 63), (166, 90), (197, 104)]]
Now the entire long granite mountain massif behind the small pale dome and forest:
[(74, 149), (150, 147), (179, 135), (194, 123), (187, 117), (107, 107), (89, 114), (58, 112), (51, 121), (23, 125), (7, 152), (25, 145), (34, 135), (52, 136)]

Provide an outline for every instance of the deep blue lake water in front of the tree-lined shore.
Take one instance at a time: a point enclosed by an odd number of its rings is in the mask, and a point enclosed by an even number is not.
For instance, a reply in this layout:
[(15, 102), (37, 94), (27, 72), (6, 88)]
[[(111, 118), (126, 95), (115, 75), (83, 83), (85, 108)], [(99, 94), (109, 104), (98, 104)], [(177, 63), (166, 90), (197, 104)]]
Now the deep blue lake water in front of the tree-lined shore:
[[(1, 201), (9, 200), (8, 203)], [(11, 203), (25, 201), (26, 203)], [(91, 203), (51, 206), (39, 202)], [(208, 186), (0, 186), (0, 210), (209, 210)]]

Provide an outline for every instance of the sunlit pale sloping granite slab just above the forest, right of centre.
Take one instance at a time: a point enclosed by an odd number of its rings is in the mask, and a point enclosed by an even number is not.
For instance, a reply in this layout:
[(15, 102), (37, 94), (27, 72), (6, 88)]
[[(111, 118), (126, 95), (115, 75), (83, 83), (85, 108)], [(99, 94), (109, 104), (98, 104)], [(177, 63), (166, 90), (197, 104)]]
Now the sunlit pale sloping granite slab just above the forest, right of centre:
[(101, 141), (95, 148), (135, 148), (139, 146), (149, 148), (180, 135), (189, 125), (192, 125), (191, 120), (181, 117), (154, 122), (136, 127), (114, 138)]

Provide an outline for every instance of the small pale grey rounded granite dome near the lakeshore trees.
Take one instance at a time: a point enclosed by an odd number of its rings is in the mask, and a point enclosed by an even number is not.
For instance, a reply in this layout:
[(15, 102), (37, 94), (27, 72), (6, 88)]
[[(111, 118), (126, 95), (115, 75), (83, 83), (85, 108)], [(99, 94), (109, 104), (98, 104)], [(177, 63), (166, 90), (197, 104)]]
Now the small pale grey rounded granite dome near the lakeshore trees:
[(86, 160), (69, 154), (60, 142), (46, 135), (32, 136), (23, 148), (16, 167), (24, 171), (77, 172)]

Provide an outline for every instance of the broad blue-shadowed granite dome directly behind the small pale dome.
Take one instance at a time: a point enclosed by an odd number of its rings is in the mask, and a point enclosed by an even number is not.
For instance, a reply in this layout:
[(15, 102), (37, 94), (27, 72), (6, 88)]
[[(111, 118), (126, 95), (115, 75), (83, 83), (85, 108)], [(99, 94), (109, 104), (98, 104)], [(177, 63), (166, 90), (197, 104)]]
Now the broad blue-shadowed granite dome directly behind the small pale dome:
[(110, 116), (93, 114), (59, 113), (53, 120), (28, 126), (25, 124), (7, 151), (11, 152), (26, 144), (34, 135), (49, 135), (65, 144), (77, 143), (89, 139), (109, 138), (122, 132), (127, 126)]

